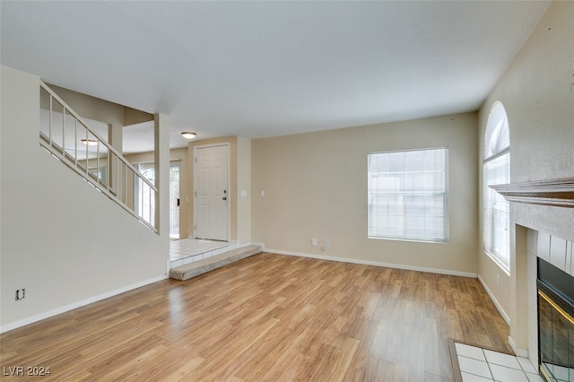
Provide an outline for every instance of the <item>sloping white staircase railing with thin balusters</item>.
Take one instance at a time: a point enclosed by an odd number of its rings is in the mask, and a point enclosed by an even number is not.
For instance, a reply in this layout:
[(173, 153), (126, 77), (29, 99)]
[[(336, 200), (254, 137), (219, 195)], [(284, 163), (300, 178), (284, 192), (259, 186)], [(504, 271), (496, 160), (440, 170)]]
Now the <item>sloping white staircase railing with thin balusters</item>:
[(152, 181), (40, 82), (39, 144), (93, 187), (158, 232)]

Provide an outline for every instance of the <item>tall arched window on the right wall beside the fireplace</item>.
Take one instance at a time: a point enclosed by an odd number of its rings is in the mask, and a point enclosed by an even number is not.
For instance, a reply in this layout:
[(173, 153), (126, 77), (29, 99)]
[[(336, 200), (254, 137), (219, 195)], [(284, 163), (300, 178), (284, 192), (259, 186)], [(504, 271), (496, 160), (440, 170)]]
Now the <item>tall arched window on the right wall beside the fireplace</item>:
[(494, 102), (486, 123), (483, 157), (484, 250), (510, 272), (509, 202), (489, 186), (510, 183), (509, 119), (504, 106)]

